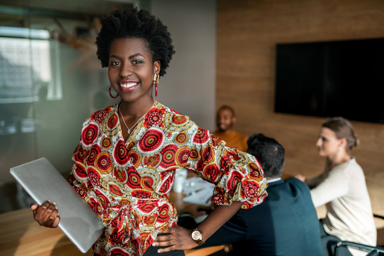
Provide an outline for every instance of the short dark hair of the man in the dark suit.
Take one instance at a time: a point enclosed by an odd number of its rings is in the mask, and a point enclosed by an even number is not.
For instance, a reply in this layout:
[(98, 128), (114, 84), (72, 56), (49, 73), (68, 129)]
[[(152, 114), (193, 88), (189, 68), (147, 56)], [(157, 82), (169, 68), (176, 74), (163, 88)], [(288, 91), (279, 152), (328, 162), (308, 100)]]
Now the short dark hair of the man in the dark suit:
[(284, 168), (284, 148), (275, 139), (254, 133), (248, 138), (247, 153), (262, 165), (265, 177), (280, 177)]

